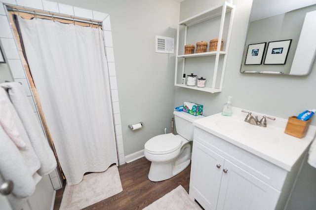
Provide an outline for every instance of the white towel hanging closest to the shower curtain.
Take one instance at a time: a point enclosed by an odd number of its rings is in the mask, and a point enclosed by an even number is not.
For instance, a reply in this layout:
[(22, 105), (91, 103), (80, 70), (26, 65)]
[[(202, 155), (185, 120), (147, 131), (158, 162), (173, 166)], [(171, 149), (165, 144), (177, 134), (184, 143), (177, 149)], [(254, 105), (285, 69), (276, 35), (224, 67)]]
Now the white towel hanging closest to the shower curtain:
[(49, 174), (57, 167), (57, 162), (22, 85), (18, 82), (5, 82), (1, 83), (0, 86), (8, 88), (11, 103), (18, 113), (32, 147), (40, 160), (40, 169), (37, 173), (41, 176)]

